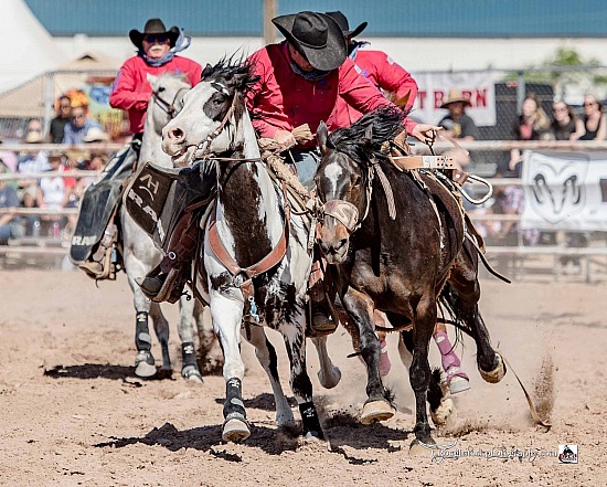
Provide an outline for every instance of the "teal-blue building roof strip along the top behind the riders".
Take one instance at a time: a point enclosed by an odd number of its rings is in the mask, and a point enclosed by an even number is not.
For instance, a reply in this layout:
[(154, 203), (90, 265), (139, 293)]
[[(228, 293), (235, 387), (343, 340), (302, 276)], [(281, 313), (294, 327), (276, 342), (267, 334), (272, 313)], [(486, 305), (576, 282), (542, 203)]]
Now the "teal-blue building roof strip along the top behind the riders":
[[(3, 0), (6, 1), (6, 0)], [(126, 36), (161, 18), (190, 35), (260, 36), (264, 0), (24, 0), (55, 36)], [(408, 38), (604, 38), (605, 0), (276, 0), (278, 14), (341, 10), (364, 35)]]

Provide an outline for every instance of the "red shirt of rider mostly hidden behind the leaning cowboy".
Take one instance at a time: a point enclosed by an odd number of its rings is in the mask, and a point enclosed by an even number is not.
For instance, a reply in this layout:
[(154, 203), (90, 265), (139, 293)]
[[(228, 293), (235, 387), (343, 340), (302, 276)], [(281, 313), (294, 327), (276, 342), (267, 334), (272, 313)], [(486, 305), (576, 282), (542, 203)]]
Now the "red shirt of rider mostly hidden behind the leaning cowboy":
[[(369, 80), (373, 86), (396, 94), (397, 99), (408, 93), (409, 97), (405, 108), (411, 109), (413, 107), (417, 96), (417, 83), (392, 57), (382, 51), (359, 50), (354, 62), (359, 73)], [(340, 127), (349, 127), (362, 117), (362, 113), (351, 106), (345, 98), (340, 97), (333, 116)]]

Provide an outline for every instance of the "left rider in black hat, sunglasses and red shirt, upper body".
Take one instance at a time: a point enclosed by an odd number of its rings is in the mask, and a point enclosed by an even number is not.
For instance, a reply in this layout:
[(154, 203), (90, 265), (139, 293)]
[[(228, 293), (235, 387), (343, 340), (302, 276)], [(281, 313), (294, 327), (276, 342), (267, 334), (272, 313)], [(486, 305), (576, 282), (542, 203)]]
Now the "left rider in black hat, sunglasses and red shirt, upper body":
[(109, 95), (109, 104), (128, 112), (130, 131), (134, 138), (141, 139), (152, 93), (147, 74), (159, 76), (167, 72), (182, 73), (194, 86), (200, 82), (202, 67), (188, 57), (177, 55), (190, 45), (191, 39), (175, 25), (167, 30), (160, 19), (148, 20), (143, 32), (131, 30), (129, 38), (137, 47), (137, 55), (120, 67)]

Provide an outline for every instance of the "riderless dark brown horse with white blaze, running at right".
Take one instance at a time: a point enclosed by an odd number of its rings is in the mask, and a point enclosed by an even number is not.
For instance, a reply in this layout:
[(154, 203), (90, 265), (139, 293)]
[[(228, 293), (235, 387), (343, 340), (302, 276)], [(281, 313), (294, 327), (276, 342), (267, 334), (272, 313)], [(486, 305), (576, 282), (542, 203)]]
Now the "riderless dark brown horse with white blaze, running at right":
[(360, 334), (369, 396), (362, 421), (393, 414), (379, 372), (380, 342), (372, 319), (377, 308), (393, 324), (413, 322), (414, 443), (434, 444), (426, 399), (432, 380), (428, 343), (439, 301), (475, 339), (483, 379), (498, 382), (505, 368), (479, 314), (478, 255), (465, 237), (459, 202), (435, 177), (401, 172), (384, 153), (385, 142), (402, 130), (402, 112), (382, 108), (330, 137), (321, 124), (316, 184), (324, 214), (318, 236), (341, 303)]

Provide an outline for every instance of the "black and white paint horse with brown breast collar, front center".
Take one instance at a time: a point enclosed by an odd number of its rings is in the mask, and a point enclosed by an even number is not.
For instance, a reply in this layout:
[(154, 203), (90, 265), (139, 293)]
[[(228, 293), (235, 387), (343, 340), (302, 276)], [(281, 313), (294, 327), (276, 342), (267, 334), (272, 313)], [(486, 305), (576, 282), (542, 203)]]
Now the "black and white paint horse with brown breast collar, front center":
[[(239, 441), (251, 434), (242, 401), (244, 363), (241, 328), (248, 315), (283, 334), (290, 360), (290, 387), (299, 404), (306, 436), (322, 437), (306, 370), (306, 289), (311, 258), (309, 226), (300, 215), (288, 218), (283, 192), (274, 184), (259, 150), (244, 94), (255, 82), (247, 65), (207, 65), (201, 83), (184, 98), (183, 109), (163, 129), (163, 150), (173, 163), (202, 150), (216, 170), (217, 198), (206, 223), (204, 262), (213, 328), (224, 353), (226, 382), (223, 438)], [(249, 339), (268, 373), (279, 424), (292, 422), (280, 389), (276, 353), (264, 329), (251, 326)], [(324, 387), (339, 382), (330, 362), (326, 337), (315, 339)]]

